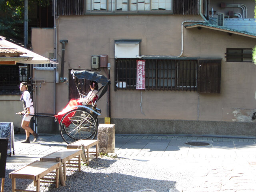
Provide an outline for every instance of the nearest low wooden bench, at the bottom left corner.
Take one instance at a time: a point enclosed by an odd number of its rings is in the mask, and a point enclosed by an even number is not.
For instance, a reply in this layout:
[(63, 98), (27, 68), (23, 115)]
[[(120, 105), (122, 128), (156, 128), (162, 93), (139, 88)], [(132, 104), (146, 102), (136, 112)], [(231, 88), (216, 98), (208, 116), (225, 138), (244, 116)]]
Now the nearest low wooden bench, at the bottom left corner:
[(59, 167), (61, 162), (50, 162), (50, 161), (34, 161), (18, 170), (15, 170), (9, 174), (9, 178), (12, 179), (12, 192), (15, 191), (28, 191), (16, 189), (16, 178), (20, 179), (32, 179), (34, 180), (34, 185), (36, 186), (36, 191), (40, 191), (40, 179), (49, 174), (50, 172), (56, 170), (55, 184), (56, 188), (59, 186)]

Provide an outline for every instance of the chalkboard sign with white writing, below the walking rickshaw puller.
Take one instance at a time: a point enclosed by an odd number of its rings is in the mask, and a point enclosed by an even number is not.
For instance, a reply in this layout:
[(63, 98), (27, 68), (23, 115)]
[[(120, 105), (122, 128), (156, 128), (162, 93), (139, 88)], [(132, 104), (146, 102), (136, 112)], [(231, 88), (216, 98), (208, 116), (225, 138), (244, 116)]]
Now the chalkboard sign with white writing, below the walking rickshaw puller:
[(12, 122), (0, 122), (0, 138), (8, 139), (8, 151), (14, 155), (14, 130)]

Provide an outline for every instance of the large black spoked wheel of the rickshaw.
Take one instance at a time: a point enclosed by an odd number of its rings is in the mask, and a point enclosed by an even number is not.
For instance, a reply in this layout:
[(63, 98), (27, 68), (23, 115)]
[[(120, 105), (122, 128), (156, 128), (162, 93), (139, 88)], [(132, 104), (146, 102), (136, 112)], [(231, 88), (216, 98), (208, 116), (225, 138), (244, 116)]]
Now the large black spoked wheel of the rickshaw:
[(80, 139), (94, 139), (98, 119), (85, 109), (74, 109), (62, 117), (59, 129), (62, 139), (68, 144)]

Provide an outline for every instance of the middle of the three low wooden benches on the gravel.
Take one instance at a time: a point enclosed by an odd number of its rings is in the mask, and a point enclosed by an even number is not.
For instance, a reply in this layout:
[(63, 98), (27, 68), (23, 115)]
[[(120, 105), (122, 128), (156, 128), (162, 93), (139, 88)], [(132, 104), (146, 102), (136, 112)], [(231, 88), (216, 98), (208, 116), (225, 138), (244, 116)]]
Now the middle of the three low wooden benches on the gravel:
[[(41, 157), (40, 160), (56, 161), (56, 158), (60, 157), (61, 163), (63, 165), (64, 180), (66, 181), (67, 180), (66, 167), (75, 167), (75, 168), (78, 168), (79, 172), (81, 171), (81, 154), (82, 154), (82, 149), (61, 149), (61, 150), (58, 150), (56, 152), (53, 152), (51, 154)], [(78, 161), (78, 162), (70, 163), (70, 160), (77, 156), (78, 156), (78, 160), (72, 160), (72, 161)], [(67, 166), (67, 164), (69, 164), (69, 165)]]

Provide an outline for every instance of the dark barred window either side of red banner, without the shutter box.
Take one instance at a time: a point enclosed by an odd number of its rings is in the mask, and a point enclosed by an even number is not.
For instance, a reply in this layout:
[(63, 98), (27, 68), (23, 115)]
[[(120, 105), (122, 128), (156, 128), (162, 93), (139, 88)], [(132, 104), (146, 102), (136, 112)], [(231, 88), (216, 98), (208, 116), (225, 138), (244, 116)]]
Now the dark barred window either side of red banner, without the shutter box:
[[(197, 60), (146, 60), (147, 90), (190, 90), (197, 88)], [(136, 59), (116, 59), (115, 90), (136, 89)]]

